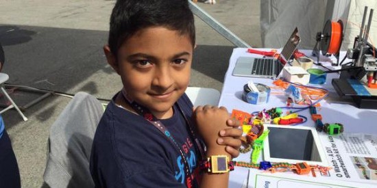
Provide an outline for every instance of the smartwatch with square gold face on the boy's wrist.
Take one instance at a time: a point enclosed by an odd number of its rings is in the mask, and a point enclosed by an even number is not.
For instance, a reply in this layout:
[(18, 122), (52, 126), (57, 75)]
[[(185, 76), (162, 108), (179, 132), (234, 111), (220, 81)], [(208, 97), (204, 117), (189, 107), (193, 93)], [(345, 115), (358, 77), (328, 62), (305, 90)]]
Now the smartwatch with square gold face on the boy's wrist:
[(234, 170), (234, 163), (226, 155), (212, 155), (200, 164), (200, 169), (211, 174), (222, 174)]

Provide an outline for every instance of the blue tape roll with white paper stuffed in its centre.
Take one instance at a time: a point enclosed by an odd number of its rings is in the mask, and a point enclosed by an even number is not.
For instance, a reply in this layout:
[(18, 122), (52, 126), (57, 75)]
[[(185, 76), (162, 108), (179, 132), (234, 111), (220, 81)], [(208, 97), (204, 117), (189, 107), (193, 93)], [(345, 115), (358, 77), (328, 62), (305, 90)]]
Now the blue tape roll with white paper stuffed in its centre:
[(262, 83), (255, 83), (258, 91), (252, 90), (249, 85), (243, 85), (243, 100), (253, 105), (265, 104), (269, 100), (271, 89)]

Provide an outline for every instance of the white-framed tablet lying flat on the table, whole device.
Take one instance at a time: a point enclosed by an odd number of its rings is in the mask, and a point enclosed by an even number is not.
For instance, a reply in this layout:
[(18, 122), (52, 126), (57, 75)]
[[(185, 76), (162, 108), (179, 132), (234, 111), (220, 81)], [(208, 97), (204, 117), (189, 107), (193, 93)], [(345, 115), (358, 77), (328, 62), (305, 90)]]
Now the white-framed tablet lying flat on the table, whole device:
[(263, 124), (269, 129), (263, 147), (265, 161), (327, 166), (317, 131), (308, 126)]

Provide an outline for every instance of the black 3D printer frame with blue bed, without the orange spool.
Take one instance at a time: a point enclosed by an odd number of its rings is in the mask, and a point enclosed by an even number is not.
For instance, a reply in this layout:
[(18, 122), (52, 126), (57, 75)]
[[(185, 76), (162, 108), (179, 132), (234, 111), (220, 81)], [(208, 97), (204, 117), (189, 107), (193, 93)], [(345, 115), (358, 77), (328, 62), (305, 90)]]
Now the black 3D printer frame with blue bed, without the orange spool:
[(376, 48), (367, 42), (372, 24), (374, 10), (369, 12), (369, 21), (365, 25), (368, 8), (365, 7), (361, 31), (354, 40), (352, 49), (348, 49), (345, 57), (352, 62), (342, 64), (339, 79), (332, 79), (332, 86), (341, 97), (350, 97), (356, 107), (362, 109), (377, 109), (377, 96), (367, 91), (367, 88), (377, 89), (377, 59)]

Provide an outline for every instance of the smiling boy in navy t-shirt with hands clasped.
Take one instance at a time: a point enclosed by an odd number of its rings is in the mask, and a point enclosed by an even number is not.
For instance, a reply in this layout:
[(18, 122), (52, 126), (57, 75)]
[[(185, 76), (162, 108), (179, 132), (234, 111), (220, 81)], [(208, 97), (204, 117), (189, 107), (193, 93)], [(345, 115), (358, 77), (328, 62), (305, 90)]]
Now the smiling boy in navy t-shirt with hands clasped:
[(104, 52), (123, 89), (93, 141), (96, 187), (228, 187), (228, 173), (199, 176), (199, 165), (207, 157), (239, 155), (242, 131), (232, 129), (238, 124), (223, 107), (193, 111), (184, 91), (194, 47), (188, 1), (117, 1)]

